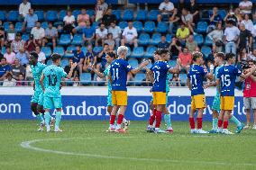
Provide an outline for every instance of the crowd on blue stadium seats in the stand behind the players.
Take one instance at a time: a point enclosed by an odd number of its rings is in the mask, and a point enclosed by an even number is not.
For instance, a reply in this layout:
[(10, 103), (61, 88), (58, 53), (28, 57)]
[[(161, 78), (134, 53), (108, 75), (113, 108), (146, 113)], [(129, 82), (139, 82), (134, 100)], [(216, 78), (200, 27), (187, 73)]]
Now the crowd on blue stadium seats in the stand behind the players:
[[(146, 13), (144, 18), (143, 13)], [(130, 48), (128, 61), (132, 66), (138, 65), (142, 58), (152, 58), (157, 48), (169, 49), (172, 57), (169, 64), (174, 66), (175, 59), (180, 58), (183, 67), (180, 75), (171, 77), (171, 85), (176, 86), (183, 85), (193, 51), (204, 54), (206, 66), (213, 63), (215, 52), (220, 51), (233, 52), (237, 63), (256, 61), (256, 13), (249, 0), (242, 0), (228, 10), (219, 10), (217, 6), (202, 10), (195, 0), (189, 3), (179, 0), (178, 4), (164, 0), (158, 10), (124, 10), (123, 14), (104, 0), (97, 0), (95, 10), (62, 10), (53, 13), (53, 19), (44, 20), (49, 15), (50, 12), (45, 16), (40, 11), (34, 12), (32, 4), (23, 0), (16, 21), (0, 21), (3, 85), (25, 85), (21, 83), (23, 80), (32, 80), (28, 60), (32, 51), (47, 65), (51, 64), (51, 52), (58, 52), (64, 58), (61, 67), (66, 72), (72, 62), (77, 62), (72, 77), (76, 86), (80, 80), (102, 81), (89, 66), (105, 70), (105, 53), (115, 52), (120, 45)], [(147, 77), (130, 75), (129, 80), (147, 80)]]

